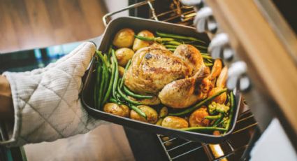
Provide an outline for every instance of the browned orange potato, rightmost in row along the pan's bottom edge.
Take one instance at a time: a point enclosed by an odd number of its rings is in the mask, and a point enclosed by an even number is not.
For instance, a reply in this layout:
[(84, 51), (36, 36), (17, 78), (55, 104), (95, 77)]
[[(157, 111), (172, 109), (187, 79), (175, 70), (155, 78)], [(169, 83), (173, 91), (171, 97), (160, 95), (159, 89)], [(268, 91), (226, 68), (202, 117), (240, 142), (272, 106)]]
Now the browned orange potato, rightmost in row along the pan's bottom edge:
[(208, 108), (202, 106), (200, 109), (197, 109), (189, 118), (189, 123), (191, 127), (199, 127), (199, 126), (208, 126), (210, 124), (210, 120), (204, 119), (205, 116), (209, 116)]

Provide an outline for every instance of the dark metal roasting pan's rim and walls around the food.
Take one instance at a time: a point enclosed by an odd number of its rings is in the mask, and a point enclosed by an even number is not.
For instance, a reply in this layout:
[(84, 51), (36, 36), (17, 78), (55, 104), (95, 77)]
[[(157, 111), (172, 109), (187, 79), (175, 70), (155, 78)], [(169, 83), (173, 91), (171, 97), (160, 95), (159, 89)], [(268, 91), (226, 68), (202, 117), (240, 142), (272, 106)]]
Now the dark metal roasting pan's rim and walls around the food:
[[(182, 25), (175, 25), (168, 22), (157, 22), (154, 20), (147, 20), (142, 18), (133, 18), (133, 17), (122, 17), (117, 18), (111, 21), (101, 39), (101, 43), (98, 44), (98, 50), (106, 51), (108, 50), (110, 44), (113, 41), (113, 37), (124, 27), (129, 27), (133, 29), (136, 33), (142, 29), (148, 29), (150, 31), (164, 31), (172, 34), (180, 34), (184, 36), (194, 36), (201, 38), (203, 41), (209, 42), (207, 34), (198, 34), (194, 28), (185, 27)], [(179, 137), (181, 139), (187, 139), (191, 141), (200, 141), (205, 143), (216, 144), (221, 141), (224, 141), (234, 130), (236, 120), (238, 118), (238, 111), (240, 108), (240, 99), (241, 94), (236, 92), (236, 109), (234, 109), (233, 120), (231, 121), (231, 129), (229, 132), (222, 136), (215, 136), (212, 134), (203, 134), (198, 132), (185, 132), (181, 130), (173, 130), (166, 127), (161, 127), (159, 125), (153, 125), (149, 123), (143, 123), (138, 120), (132, 120), (131, 118), (124, 118), (120, 116), (115, 116), (98, 109), (94, 109), (94, 83), (95, 83), (95, 74), (94, 72), (94, 59), (92, 60), (89, 70), (86, 73), (85, 84), (82, 88), (82, 93), (80, 95), (83, 106), (87, 112), (94, 116), (95, 118), (106, 120), (111, 123), (116, 123), (126, 127), (135, 128), (136, 130), (143, 130), (146, 132), (153, 132), (157, 134), (164, 134), (166, 136)]]

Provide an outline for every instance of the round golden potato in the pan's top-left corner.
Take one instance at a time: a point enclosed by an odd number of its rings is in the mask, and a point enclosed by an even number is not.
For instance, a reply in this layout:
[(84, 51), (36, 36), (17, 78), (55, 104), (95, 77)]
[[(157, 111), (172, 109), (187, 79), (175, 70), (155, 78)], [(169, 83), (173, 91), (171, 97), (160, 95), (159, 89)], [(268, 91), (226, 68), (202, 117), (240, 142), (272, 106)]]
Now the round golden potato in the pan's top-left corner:
[(117, 48), (129, 48), (134, 41), (134, 31), (129, 28), (121, 29), (115, 34), (113, 38), (113, 45)]

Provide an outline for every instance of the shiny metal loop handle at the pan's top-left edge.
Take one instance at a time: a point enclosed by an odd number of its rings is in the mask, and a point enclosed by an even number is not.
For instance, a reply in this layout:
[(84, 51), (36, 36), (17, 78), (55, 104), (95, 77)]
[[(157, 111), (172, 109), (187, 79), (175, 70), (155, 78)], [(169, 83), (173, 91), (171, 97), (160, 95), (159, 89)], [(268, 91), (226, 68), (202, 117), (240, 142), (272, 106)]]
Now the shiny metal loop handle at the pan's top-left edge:
[(154, 1), (154, 0), (141, 1), (139, 3), (131, 4), (130, 6), (127, 6), (126, 8), (122, 8), (121, 10), (117, 10), (117, 11), (112, 12), (112, 13), (106, 13), (106, 15), (104, 15), (103, 18), (102, 18), (103, 24), (105, 26), (107, 26), (108, 25), (108, 22), (110, 21), (110, 17), (112, 15), (115, 15), (117, 13), (121, 13), (124, 10), (130, 10), (132, 8), (138, 8), (138, 7), (143, 6), (145, 4), (147, 4), (150, 7), (150, 10), (152, 10), (152, 17), (154, 18), (154, 20), (158, 20), (157, 15), (154, 12), (154, 7), (152, 6), (152, 1)]

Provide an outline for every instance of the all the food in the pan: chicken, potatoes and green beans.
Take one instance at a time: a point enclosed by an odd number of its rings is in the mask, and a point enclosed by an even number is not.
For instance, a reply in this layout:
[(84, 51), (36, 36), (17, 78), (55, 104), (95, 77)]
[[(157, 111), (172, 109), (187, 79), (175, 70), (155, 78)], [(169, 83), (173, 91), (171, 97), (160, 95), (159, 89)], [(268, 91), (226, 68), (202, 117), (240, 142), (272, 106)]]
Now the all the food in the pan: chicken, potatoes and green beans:
[(178, 130), (224, 134), (235, 109), (227, 67), (198, 38), (121, 29), (96, 51), (94, 106)]

